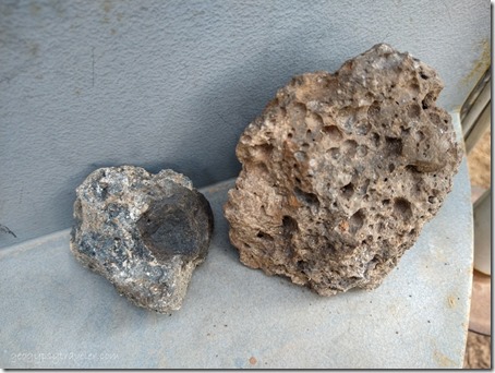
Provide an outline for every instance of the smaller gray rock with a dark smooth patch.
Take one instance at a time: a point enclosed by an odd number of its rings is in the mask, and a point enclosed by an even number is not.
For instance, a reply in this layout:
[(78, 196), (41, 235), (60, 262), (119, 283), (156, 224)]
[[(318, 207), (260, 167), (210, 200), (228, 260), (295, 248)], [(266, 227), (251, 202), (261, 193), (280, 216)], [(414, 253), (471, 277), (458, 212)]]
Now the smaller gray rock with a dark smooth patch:
[(76, 189), (71, 251), (136, 305), (179, 310), (208, 252), (213, 213), (172, 170), (100, 168)]

